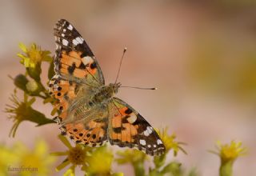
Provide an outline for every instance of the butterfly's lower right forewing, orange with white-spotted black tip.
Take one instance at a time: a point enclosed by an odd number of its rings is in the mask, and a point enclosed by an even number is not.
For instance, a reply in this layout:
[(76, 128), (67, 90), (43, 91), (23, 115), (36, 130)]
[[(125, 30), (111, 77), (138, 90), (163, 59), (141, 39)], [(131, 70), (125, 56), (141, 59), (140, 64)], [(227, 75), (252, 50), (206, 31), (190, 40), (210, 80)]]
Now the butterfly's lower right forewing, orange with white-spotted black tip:
[(112, 145), (136, 147), (150, 155), (166, 150), (161, 138), (149, 122), (119, 98), (110, 104), (108, 139)]

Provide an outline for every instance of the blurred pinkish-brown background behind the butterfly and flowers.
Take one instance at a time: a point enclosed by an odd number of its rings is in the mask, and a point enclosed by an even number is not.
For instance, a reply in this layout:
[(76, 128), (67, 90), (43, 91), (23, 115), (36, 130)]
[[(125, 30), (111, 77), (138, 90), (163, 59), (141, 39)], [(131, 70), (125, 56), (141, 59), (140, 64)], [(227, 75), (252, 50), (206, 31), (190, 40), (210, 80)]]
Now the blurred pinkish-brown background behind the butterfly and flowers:
[[(242, 141), (246, 157), (234, 164), (234, 175), (256, 175), (256, 2), (218, 1), (5, 1), (0, 6), (0, 109), (14, 90), (7, 75), (25, 71), (18, 42), (36, 42), (54, 54), (54, 23), (66, 18), (82, 34), (102, 67), (106, 83), (114, 82), (122, 50), (127, 52), (119, 81), (123, 86), (158, 90), (119, 90), (118, 98), (138, 110), (154, 127), (169, 127), (188, 155), (168, 160), (217, 175), (219, 158), (209, 154), (217, 140)], [(45, 66), (47, 68), (47, 66)], [(43, 70), (42, 82), (47, 82)], [(44, 76), (45, 75), (45, 76)], [(50, 118), (51, 106), (34, 108)], [(50, 151), (65, 150), (55, 124), (37, 128), (22, 122), (15, 138), (13, 122), (1, 113), (0, 142), (22, 141), (33, 147), (43, 138)], [(115, 148), (114, 149), (118, 149)], [(123, 150), (123, 149), (118, 149)], [(114, 171), (130, 175), (130, 166)], [(60, 173), (61, 175), (61, 173)]]

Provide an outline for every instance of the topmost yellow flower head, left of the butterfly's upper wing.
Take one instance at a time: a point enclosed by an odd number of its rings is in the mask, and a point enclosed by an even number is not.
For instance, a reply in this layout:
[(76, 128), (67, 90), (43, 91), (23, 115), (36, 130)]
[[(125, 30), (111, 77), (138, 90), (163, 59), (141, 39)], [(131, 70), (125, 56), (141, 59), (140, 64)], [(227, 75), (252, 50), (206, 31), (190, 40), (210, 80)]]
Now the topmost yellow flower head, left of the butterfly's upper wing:
[(34, 68), (37, 64), (41, 64), (42, 61), (50, 62), (52, 58), (49, 56), (50, 51), (41, 50), (36, 44), (32, 44), (30, 48), (27, 48), (23, 43), (19, 44), (20, 49), (25, 54), (17, 54), (20, 61), (24, 66)]

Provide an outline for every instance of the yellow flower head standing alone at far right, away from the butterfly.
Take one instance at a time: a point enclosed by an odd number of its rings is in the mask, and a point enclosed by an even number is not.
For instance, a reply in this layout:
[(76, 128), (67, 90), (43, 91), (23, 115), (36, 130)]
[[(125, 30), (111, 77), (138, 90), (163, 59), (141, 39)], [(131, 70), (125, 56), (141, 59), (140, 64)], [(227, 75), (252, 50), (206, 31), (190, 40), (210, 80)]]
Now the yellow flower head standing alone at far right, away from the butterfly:
[(210, 151), (211, 153), (218, 154), (222, 162), (234, 161), (239, 156), (246, 154), (246, 148), (242, 147), (242, 142), (231, 141), (230, 144), (222, 144), (217, 142), (218, 151)]

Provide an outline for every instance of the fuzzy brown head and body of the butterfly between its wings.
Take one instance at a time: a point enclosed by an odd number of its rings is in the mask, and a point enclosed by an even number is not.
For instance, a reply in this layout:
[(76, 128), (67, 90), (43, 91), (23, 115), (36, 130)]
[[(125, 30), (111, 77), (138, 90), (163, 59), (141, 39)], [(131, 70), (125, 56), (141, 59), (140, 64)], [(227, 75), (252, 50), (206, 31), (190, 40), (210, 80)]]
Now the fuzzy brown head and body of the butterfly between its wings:
[(104, 104), (110, 102), (114, 94), (118, 93), (121, 83), (110, 83), (108, 86), (101, 86), (90, 98), (90, 105)]

